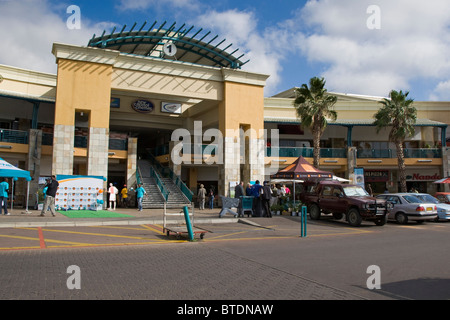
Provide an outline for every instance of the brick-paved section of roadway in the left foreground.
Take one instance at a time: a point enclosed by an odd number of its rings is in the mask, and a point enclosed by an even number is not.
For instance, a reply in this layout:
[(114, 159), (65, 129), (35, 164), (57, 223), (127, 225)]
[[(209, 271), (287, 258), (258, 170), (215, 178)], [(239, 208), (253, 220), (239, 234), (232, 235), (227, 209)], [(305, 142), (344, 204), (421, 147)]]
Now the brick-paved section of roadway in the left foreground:
[[(81, 270), (69, 290), (67, 268)], [(0, 252), (0, 299), (358, 300), (202, 243)]]

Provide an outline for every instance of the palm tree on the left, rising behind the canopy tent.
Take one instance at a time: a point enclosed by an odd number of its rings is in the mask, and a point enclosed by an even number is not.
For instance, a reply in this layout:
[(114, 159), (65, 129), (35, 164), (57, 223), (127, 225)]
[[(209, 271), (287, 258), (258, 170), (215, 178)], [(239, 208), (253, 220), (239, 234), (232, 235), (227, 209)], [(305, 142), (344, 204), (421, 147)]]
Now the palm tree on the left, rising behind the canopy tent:
[(320, 137), (327, 126), (327, 118), (337, 119), (337, 113), (332, 109), (337, 97), (327, 93), (325, 82), (324, 78), (314, 77), (309, 80), (309, 87), (302, 84), (300, 88), (295, 88), (294, 107), (302, 125), (313, 134), (313, 165), (316, 168), (319, 168)]

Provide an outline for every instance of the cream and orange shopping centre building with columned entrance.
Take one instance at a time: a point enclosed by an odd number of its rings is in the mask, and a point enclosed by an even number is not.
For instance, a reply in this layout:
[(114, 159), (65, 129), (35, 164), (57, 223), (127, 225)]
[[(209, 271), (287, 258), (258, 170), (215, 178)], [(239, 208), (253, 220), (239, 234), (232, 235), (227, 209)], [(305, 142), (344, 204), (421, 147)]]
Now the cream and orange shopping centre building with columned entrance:
[[(0, 157), (31, 172), (30, 194), (51, 174), (131, 186), (139, 159), (151, 158), (194, 194), (203, 183), (229, 195), (237, 181), (268, 180), (300, 155), (312, 162), (293, 89), (265, 98), (268, 75), (242, 71), (234, 52), (190, 36), (192, 28), (153, 27), (104, 33), (86, 47), (55, 43), (56, 75), (0, 65)], [(321, 168), (345, 178), (363, 168), (375, 191), (395, 191), (395, 148), (372, 126), (381, 98), (336, 95)], [(422, 191), (448, 175), (449, 105), (415, 103), (406, 165), (409, 185)]]

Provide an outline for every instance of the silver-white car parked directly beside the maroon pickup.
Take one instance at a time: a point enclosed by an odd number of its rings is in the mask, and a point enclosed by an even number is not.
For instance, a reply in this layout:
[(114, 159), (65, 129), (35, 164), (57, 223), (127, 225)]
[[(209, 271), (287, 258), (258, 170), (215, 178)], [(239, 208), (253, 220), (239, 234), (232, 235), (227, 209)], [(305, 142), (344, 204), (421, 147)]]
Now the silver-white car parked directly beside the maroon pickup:
[(389, 210), (388, 219), (395, 220), (400, 224), (407, 224), (410, 220), (417, 223), (435, 220), (438, 217), (436, 204), (424, 202), (416, 195), (413, 193), (383, 193), (377, 198), (385, 199), (394, 205)]

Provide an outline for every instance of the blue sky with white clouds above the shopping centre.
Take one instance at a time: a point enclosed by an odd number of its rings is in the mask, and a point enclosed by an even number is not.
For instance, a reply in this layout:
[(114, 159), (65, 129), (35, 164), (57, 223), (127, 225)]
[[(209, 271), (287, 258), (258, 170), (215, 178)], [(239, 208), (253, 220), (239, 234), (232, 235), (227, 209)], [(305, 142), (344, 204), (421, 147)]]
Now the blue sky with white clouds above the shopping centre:
[[(80, 29), (67, 27), (70, 5)], [(266, 96), (323, 76), (333, 92), (450, 101), (448, 0), (0, 0), (0, 64), (55, 73), (53, 42), (155, 20), (233, 43), (244, 70), (270, 75)]]

